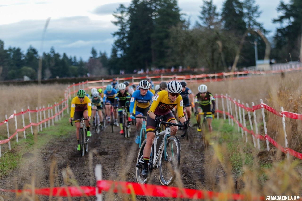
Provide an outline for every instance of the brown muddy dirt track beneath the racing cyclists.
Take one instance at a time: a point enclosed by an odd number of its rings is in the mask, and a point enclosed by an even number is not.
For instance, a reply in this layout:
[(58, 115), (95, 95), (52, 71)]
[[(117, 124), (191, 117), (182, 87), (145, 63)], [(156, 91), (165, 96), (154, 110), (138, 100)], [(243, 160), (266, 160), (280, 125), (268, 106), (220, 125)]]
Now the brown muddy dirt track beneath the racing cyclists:
[[(137, 182), (135, 164), (138, 145), (135, 144), (135, 126), (131, 126), (130, 138), (125, 139), (119, 134), (119, 127), (111, 132), (111, 127), (104, 129), (100, 135), (94, 132), (89, 144), (89, 154), (80, 157), (76, 151), (75, 133), (68, 137), (56, 139), (46, 147), (39, 149), (34, 155), (25, 155), (22, 166), (4, 179), (0, 180), (0, 188), (22, 189), (34, 185), (36, 187), (50, 186), (95, 186), (94, 169), (96, 164), (102, 164), (104, 180), (120, 180)], [(180, 179), (175, 179), (172, 186), (185, 188), (215, 190), (219, 178), (225, 174), (218, 164), (212, 164), (212, 155), (204, 157), (201, 137), (196, 127), (190, 129), (189, 140), (181, 138), (182, 131), (177, 136), (181, 143)], [(211, 151), (211, 150), (210, 150)], [(214, 160), (213, 160), (214, 161)], [(205, 165), (207, 164), (207, 165)], [(179, 182), (181, 181), (181, 182)], [(149, 183), (160, 185), (158, 170), (153, 170)], [(103, 193), (103, 200), (131, 200), (130, 195)], [(26, 196), (16, 197), (14, 193), (0, 193), (4, 200), (21, 200)], [(0, 197), (1, 199), (1, 197)], [(96, 197), (82, 198), (52, 198), (51, 200), (95, 200)], [(34, 200), (29, 197), (25, 200)], [(37, 196), (35, 200), (50, 200), (48, 196)], [(168, 200), (167, 198), (137, 196), (136, 200)], [(171, 199), (173, 200), (173, 199)]]

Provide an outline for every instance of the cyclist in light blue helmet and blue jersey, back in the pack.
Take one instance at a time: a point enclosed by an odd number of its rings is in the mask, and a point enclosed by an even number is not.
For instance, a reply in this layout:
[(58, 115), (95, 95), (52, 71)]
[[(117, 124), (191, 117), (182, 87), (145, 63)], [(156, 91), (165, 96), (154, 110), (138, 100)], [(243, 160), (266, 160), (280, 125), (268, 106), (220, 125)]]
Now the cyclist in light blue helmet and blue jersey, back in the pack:
[[(105, 100), (105, 111), (106, 111), (106, 120), (110, 122), (110, 113), (111, 105), (114, 104), (114, 98), (116, 97), (117, 91), (112, 87), (112, 85), (107, 85), (106, 90), (104, 91), (104, 100)], [(118, 126), (117, 123), (117, 114), (114, 112), (114, 125)]]

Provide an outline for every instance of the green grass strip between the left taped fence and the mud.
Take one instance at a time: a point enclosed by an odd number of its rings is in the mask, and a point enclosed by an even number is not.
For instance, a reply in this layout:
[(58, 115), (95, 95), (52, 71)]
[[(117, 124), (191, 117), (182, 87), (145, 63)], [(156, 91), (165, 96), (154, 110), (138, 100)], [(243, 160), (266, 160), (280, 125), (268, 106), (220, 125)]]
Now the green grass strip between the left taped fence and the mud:
[[(2, 152), (2, 157), (0, 158), (0, 179), (18, 167), (24, 153), (31, 152), (33, 148), (42, 148), (52, 140), (68, 137), (76, 129), (75, 126), (70, 126), (67, 115), (54, 124), (54, 126), (49, 128), (43, 128), (37, 135), (32, 135), (30, 129), (27, 129), (26, 139), (20, 139), (23, 137), (23, 132), (18, 133), (19, 142), (12, 141), (11, 150), (6, 153)], [(6, 144), (5, 146), (8, 145)]]

